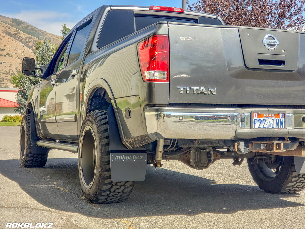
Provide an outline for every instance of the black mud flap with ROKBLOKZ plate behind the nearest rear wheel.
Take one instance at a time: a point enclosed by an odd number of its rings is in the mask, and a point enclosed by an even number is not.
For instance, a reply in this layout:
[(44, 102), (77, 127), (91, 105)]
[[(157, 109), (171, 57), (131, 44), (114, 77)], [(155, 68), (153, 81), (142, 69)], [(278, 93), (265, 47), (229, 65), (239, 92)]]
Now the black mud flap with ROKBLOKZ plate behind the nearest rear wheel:
[(147, 153), (143, 148), (127, 149), (121, 141), (113, 106), (107, 109), (110, 168), (112, 181), (142, 181), (147, 168)]

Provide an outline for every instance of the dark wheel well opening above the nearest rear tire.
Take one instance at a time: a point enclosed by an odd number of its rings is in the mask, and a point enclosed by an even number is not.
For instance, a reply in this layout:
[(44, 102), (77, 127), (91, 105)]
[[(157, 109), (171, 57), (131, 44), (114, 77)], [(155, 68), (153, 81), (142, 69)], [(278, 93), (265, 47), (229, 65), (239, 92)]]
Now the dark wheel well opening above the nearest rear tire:
[(86, 115), (91, 111), (107, 110), (110, 105), (108, 93), (102, 87), (95, 88), (88, 99)]

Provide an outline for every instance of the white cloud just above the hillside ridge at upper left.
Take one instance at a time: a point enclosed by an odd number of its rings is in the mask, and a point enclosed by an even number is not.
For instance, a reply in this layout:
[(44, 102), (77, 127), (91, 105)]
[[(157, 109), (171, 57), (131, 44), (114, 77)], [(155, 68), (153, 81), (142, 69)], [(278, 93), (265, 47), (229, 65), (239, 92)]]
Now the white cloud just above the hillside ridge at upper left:
[[(0, 13), (2, 14), (2, 13)], [(58, 13), (55, 11), (25, 11), (21, 10), (16, 14), (2, 14), (7, 17), (23, 20), (41, 30), (61, 36), (61, 24), (67, 27), (74, 27), (77, 22), (71, 22), (71, 16), (67, 13)]]

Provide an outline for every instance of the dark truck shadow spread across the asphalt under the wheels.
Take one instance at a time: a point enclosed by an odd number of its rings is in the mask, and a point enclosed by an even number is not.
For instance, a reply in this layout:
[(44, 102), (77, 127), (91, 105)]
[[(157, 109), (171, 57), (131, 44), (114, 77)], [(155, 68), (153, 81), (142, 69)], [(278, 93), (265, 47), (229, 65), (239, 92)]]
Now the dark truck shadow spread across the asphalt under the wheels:
[(20, 160), (1, 160), (0, 173), (48, 208), (84, 216), (117, 219), (141, 216), (230, 214), (238, 211), (303, 206), (281, 198), (299, 194), (268, 194), (256, 186), (217, 184), (148, 165), (146, 179), (136, 182), (122, 203), (93, 205), (84, 201), (77, 158), (50, 158), (43, 168), (23, 168)]

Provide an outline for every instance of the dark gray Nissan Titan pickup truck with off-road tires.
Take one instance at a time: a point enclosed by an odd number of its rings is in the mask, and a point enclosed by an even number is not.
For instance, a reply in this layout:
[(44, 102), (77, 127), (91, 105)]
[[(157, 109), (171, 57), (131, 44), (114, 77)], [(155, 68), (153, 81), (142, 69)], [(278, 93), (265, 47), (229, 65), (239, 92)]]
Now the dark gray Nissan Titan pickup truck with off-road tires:
[(77, 153), (92, 203), (128, 198), (147, 164), (161, 160), (201, 170), (246, 158), (264, 191), (305, 188), (303, 32), (226, 26), (173, 7), (103, 5), (71, 29), (49, 64), (24, 58), (23, 74), (44, 80), (27, 101), (21, 164), (44, 166), (49, 149)]

